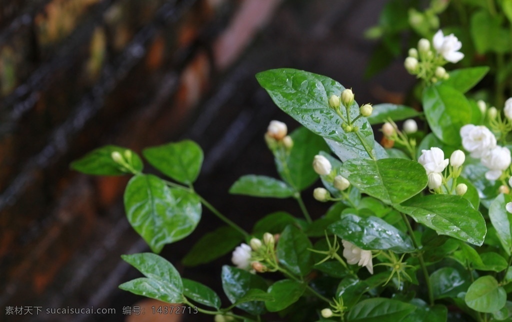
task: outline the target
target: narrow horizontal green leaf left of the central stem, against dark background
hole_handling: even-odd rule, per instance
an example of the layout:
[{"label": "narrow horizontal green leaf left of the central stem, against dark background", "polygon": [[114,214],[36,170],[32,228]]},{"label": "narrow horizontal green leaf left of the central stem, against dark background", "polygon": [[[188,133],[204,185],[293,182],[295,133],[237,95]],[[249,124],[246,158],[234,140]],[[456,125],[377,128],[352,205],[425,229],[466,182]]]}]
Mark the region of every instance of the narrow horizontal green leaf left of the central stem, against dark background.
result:
[{"label": "narrow horizontal green leaf left of the central stem, against dark background", "polygon": [[252,197],[288,198],[293,196],[293,189],[283,181],[271,177],[247,175],[233,183],[229,193]]}]

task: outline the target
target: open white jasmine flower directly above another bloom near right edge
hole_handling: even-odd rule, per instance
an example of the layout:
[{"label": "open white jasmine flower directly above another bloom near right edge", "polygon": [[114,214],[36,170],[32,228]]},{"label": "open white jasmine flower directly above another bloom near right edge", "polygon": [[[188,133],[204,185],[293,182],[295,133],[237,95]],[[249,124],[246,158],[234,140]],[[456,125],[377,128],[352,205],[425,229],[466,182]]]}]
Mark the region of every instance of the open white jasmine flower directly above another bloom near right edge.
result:
[{"label": "open white jasmine flower directly above another bloom near right edge", "polygon": [[467,124],[460,128],[462,146],[473,158],[482,158],[496,147],[496,137],[483,125]]}]

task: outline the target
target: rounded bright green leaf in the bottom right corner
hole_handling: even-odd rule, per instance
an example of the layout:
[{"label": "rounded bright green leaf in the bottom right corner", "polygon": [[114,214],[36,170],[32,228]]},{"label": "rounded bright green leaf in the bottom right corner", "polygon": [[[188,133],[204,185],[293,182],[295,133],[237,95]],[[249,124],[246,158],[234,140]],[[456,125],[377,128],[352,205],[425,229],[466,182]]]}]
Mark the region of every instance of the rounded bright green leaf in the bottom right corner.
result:
[{"label": "rounded bright green leaf in the bottom right corner", "polygon": [[493,313],[505,306],[507,293],[490,275],[479,277],[467,289],[464,301],[477,312]]}]

